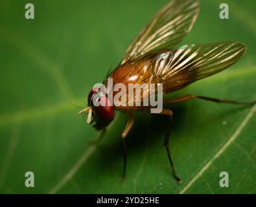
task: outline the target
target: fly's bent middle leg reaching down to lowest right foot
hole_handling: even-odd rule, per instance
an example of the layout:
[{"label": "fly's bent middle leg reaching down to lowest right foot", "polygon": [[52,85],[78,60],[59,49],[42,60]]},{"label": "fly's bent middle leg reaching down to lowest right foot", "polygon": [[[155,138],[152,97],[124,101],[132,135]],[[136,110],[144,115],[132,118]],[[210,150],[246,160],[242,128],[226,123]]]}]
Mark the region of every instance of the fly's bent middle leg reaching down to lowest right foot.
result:
[{"label": "fly's bent middle leg reaching down to lowest right foot", "polygon": [[174,164],[172,162],[172,157],[170,156],[170,149],[169,149],[169,136],[170,136],[170,126],[172,124],[172,111],[170,109],[163,109],[163,111],[161,111],[161,113],[159,114],[163,114],[163,115],[167,115],[169,116],[170,120],[169,120],[169,124],[167,125],[167,131],[165,134],[165,140],[163,142],[165,149],[167,151],[167,156],[169,159],[169,163],[170,163],[170,168],[172,169],[172,174],[174,175],[174,178],[178,181],[178,183],[181,183],[182,180],[180,179],[180,177],[178,177],[176,170],[174,168]]}]

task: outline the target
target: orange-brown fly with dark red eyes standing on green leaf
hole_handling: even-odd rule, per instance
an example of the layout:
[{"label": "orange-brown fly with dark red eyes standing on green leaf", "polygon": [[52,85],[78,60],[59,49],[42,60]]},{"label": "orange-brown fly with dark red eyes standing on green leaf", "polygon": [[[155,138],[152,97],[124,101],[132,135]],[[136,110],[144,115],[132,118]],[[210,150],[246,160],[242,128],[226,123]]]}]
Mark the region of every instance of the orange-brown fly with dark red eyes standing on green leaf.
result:
[{"label": "orange-brown fly with dark red eyes standing on green leaf", "polygon": [[[126,87],[128,87],[129,83],[161,83],[163,84],[163,93],[167,94],[181,89],[196,80],[223,71],[239,61],[246,52],[246,45],[239,42],[223,41],[202,45],[185,45],[178,49],[174,48],[191,30],[199,10],[200,4],[198,0],[170,1],[141,30],[126,50],[121,63],[108,74],[107,78],[112,78],[113,84],[123,83]],[[103,84],[108,87],[106,80]],[[122,180],[124,180],[126,175],[126,146],[124,140],[134,124],[133,113],[141,110],[150,111],[154,106],[132,107],[127,104],[115,105],[115,103],[111,105],[108,93],[109,91],[106,94],[102,94],[98,87],[93,88],[88,95],[88,106],[80,111],[80,114],[88,113],[87,122],[89,124],[95,122],[93,126],[97,130],[104,129],[110,124],[114,118],[114,110],[128,114],[128,121],[121,135],[124,146],[124,169],[122,174]],[[96,106],[93,103],[93,98],[104,101],[106,105]],[[220,100],[191,94],[175,99],[167,98],[163,100],[163,103],[179,103],[194,98],[219,103],[247,105],[255,103]],[[126,103],[130,102],[130,99],[131,97],[128,98]],[[143,97],[141,97],[142,99]],[[168,145],[172,111],[170,109],[163,109],[159,114],[168,116],[170,120],[164,145],[174,178],[181,182],[174,169]]]}]

